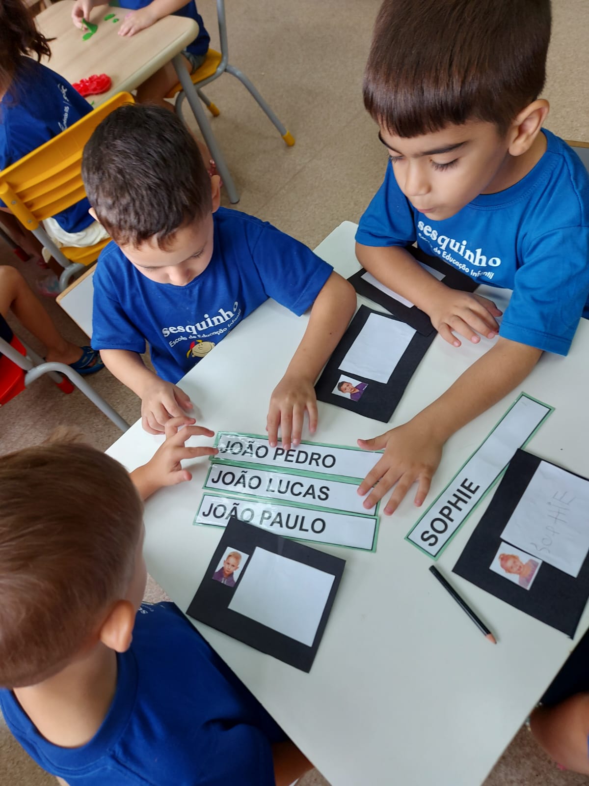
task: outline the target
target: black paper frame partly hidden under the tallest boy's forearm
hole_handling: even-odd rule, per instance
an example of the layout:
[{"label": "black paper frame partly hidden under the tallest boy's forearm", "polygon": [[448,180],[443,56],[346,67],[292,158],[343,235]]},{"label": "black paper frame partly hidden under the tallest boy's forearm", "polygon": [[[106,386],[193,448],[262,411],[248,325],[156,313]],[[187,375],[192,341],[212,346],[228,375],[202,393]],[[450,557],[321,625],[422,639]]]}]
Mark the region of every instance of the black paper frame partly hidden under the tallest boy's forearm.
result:
[{"label": "black paper frame partly hidden under the tallest boy's forearm", "polygon": [[[474,278],[461,273],[460,270],[456,270],[454,266],[444,262],[440,257],[426,254],[421,248],[409,246],[407,251],[419,262],[423,262],[433,267],[434,270],[443,273],[443,283],[452,289],[458,289],[461,292],[474,292],[479,284]],[[364,273],[366,273],[366,270],[363,267],[348,278],[349,283],[353,285],[353,288],[359,295],[367,297],[374,303],[379,303],[379,306],[386,308],[390,314],[393,314],[394,317],[397,317],[402,322],[406,322],[407,325],[411,325],[413,329],[418,330],[423,336],[429,336],[430,333],[435,332],[434,325],[431,324],[430,317],[425,311],[422,311],[417,306],[405,306],[404,303],[395,300],[390,295],[387,295],[386,292],[382,292],[378,287],[369,284],[368,281],[364,281],[364,278],[362,278]]]}]

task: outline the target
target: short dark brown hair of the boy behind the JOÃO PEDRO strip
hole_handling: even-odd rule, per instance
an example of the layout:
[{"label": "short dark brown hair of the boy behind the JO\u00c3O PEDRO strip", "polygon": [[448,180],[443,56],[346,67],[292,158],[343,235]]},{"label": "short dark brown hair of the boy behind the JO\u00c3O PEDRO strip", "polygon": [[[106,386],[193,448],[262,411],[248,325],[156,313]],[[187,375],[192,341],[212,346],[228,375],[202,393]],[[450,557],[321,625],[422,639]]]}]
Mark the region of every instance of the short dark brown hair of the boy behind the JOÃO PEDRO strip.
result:
[{"label": "short dark brown hair of the boy behind the JO\u00c3O PEDRO strip", "polygon": [[119,244],[155,237],[166,249],[184,224],[212,209],[196,139],[167,109],[127,104],[94,130],[82,179],[98,220]]}]

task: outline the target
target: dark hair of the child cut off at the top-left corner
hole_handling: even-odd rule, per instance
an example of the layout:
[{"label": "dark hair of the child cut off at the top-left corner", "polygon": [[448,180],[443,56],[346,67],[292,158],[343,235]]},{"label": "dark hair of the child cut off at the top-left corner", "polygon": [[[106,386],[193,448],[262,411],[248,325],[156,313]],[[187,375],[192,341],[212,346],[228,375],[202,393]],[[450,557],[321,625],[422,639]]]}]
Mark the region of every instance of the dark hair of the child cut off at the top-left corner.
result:
[{"label": "dark hair of the child cut off at the top-left corner", "polygon": [[23,55],[51,57],[49,40],[21,0],[0,0],[0,96],[9,89]]}]

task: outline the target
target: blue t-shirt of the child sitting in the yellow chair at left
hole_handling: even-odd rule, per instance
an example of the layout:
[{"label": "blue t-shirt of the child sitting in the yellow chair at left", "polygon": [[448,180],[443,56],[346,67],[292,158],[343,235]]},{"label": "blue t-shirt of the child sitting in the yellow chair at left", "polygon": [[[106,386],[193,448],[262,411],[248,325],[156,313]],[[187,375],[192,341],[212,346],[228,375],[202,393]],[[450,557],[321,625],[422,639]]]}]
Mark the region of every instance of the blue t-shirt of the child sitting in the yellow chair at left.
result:
[{"label": "blue t-shirt of the child sitting in the yellow chair at left", "polygon": [[[31,57],[21,57],[0,101],[0,171],[89,112],[88,101],[62,76]],[[83,199],[53,218],[66,232],[81,232],[94,220],[89,210],[90,202]]]}]

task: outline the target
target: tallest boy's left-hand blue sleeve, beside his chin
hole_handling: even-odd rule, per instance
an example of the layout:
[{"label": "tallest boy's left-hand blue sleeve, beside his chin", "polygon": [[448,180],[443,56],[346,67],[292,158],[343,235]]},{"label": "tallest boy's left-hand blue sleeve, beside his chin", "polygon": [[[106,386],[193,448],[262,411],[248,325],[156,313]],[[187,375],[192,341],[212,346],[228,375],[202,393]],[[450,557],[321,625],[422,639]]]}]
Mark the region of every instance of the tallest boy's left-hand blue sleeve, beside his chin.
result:
[{"label": "tallest boy's left-hand blue sleeve, beside his chin", "polygon": [[397,185],[393,165],[389,163],[382,185],[360,219],[356,241],[369,246],[407,246],[416,240],[412,207]]}]

